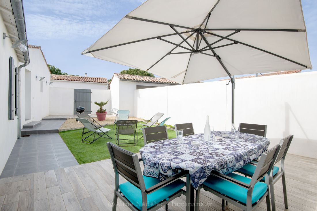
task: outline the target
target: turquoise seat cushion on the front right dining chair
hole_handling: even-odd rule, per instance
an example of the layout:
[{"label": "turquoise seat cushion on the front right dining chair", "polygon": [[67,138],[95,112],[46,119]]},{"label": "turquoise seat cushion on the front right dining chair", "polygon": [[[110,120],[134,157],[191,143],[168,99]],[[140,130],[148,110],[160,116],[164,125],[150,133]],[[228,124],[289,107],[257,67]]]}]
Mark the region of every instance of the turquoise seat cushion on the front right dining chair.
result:
[{"label": "turquoise seat cushion on the front right dining chair", "polygon": [[[227,176],[230,176],[236,180],[249,184],[251,179],[235,173],[230,173]],[[229,196],[230,198],[240,201],[244,204],[247,203],[247,192],[248,190],[236,185],[232,182],[228,182],[224,179],[221,179],[217,176],[209,176],[207,180],[203,183],[205,186],[213,189],[223,195]],[[267,184],[264,182],[256,182],[253,192],[252,192],[252,204],[257,202],[268,189]]]}]

